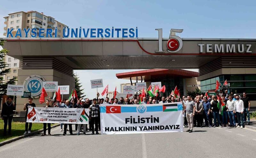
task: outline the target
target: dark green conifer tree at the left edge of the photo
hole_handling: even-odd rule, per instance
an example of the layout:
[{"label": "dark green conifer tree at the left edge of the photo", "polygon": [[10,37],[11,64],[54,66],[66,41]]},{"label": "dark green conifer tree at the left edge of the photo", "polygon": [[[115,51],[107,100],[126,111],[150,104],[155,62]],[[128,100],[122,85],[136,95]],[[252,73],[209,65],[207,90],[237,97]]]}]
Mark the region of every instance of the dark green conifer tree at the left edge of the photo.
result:
[{"label": "dark green conifer tree at the left edge of the photo", "polygon": [[[0,46],[4,45],[4,41],[0,41]],[[4,83],[4,75],[11,72],[11,68],[6,68],[8,65],[4,62],[4,57],[9,51],[7,49],[2,49],[0,51],[0,95],[5,95],[7,91],[8,84],[15,84],[17,77],[13,77],[6,83]]]}]

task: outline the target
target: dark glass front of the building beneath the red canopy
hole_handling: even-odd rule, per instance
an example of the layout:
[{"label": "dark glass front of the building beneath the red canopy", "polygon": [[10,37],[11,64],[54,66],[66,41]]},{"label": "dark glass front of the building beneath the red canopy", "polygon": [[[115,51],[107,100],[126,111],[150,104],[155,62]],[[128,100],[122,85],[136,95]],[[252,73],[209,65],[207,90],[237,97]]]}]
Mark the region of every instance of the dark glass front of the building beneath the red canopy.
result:
[{"label": "dark glass front of the building beneath the red canopy", "polygon": [[[172,75],[165,75],[165,76],[151,76],[151,82],[161,82],[162,86],[165,85],[165,93],[162,95],[166,96],[171,94],[174,90],[175,86],[180,89],[180,97],[183,95],[183,78],[172,76]],[[153,89],[154,87],[152,87]],[[161,87],[159,87],[160,89]]]}]

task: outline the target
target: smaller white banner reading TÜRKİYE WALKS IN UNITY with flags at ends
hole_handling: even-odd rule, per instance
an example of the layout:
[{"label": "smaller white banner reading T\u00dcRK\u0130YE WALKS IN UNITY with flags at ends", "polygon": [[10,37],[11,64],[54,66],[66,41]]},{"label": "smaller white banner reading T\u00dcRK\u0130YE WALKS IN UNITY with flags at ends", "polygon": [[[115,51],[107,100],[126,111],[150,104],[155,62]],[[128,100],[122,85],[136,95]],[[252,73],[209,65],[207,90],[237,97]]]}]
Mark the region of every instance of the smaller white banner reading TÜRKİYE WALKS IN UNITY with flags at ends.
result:
[{"label": "smaller white banner reading T\u00dcRK\u0130YE WALKS IN UNITY with flags at ends", "polygon": [[89,124],[89,109],[29,107],[27,122]]}]

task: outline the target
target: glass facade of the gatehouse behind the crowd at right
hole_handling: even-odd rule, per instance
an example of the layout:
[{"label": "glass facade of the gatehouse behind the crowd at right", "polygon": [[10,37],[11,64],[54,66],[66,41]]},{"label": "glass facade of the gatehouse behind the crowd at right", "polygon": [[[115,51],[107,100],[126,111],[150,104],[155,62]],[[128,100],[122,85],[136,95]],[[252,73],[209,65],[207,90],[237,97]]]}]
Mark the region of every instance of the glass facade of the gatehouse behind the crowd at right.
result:
[{"label": "glass facade of the gatehouse behind the crowd at right", "polygon": [[[216,80],[220,81],[220,84],[227,80],[230,84],[229,93],[233,92],[234,94],[241,95],[245,91],[251,100],[256,100],[254,97],[256,94],[256,74],[221,75],[203,80],[200,82],[202,93],[208,90],[215,90]],[[223,90],[226,89],[227,87],[223,87]]]}]

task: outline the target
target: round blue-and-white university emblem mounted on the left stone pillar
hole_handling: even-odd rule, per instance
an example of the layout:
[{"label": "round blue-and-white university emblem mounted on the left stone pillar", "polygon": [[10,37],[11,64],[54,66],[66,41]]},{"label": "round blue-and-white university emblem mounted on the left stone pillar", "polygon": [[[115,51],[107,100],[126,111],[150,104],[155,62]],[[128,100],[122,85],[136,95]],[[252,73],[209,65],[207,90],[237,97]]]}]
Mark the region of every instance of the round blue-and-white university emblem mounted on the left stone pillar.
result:
[{"label": "round blue-and-white university emblem mounted on the left stone pillar", "polygon": [[42,93],[44,78],[39,75],[31,75],[24,81],[24,89],[27,92],[31,92],[31,97],[39,98]]}]

